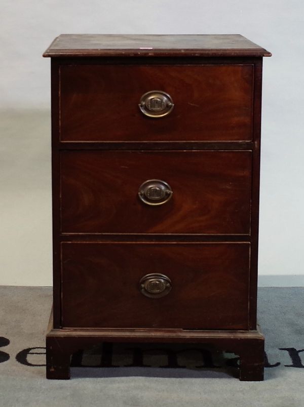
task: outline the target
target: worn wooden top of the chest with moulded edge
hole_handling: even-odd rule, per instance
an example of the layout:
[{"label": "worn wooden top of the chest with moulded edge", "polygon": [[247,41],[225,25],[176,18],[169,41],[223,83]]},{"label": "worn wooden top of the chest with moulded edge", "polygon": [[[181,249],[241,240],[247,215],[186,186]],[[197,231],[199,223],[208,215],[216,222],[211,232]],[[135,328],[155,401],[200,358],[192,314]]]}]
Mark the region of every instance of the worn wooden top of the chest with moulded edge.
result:
[{"label": "worn wooden top of the chest with moulded edge", "polygon": [[240,34],[116,35],[61,34],[44,57],[269,57]]}]

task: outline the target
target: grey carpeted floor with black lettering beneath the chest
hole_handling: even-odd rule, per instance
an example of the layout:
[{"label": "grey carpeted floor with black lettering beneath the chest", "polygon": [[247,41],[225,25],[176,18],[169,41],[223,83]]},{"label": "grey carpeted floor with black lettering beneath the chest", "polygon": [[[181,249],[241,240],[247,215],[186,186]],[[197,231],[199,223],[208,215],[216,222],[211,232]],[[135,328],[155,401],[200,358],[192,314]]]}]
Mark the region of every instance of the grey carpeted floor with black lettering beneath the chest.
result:
[{"label": "grey carpeted floor with black lettering beneath the chest", "polygon": [[[191,352],[178,359],[185,368],[161,368],[167,361],[157,350],[143,360],[149,367],[126,367],[134,354],[124,345],[113,349],[113,364],[119,367],[74,367],[70,381],[47,381],[44,337],[50,307],[49,288],[0,287],[1,406],[304,405],[304,352],[297,352],[304,348],[302,288],[259,290],[269,361],[264,382],[240,382],[231,369],[198,368],[202,363]],[[80,363],[94,366],[98,358],[98,350],[87,352]]]}]

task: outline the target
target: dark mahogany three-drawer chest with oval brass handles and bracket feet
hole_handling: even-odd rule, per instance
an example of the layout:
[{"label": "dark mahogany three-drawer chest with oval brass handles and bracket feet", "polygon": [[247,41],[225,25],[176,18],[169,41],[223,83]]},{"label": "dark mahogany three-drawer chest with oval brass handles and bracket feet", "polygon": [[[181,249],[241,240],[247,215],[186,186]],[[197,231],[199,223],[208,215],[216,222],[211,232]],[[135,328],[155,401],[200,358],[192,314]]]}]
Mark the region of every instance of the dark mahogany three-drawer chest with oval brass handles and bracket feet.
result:
[{"label": "dark mahogany three-drawer chest with oval brass handles and bracket feet", "polygon": [[100,342],[202,342],[262,380],[263,48],[241,35],[60,35],[47,377]]}]

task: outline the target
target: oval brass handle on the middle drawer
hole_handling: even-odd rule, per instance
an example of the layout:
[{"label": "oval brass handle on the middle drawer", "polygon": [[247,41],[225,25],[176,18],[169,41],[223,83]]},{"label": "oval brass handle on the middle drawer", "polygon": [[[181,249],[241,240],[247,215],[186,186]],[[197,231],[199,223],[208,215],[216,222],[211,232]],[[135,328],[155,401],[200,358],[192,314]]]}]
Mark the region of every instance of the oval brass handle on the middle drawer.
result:
[{"label": "oval brass handle on the middle drawer", "polygon": [[170,185],[162,180],[147,180],[138,190],[139,199],[146,205],[163,205],[171,198]]}]

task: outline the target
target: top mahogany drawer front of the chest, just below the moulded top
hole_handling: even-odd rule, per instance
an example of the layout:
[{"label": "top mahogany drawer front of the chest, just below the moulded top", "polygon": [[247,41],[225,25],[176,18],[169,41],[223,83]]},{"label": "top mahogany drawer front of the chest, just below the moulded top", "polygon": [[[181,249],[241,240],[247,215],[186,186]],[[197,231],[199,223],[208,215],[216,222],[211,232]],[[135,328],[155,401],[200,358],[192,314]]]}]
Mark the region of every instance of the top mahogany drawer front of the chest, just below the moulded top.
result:
[{"label": "top mahogany drawer front of the chest, just below the moulded top", "polygon": [[[62,65],[60,137],[62,141],[250,141],[252,84],[249,64]],[[174,108],[166,116],[151,118],[140,111],[139,102],[143,94],[155,90],[169,94]],[[152,108],[158,108],[157,103]]]}]

